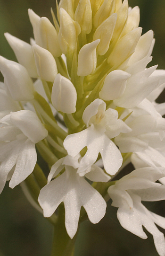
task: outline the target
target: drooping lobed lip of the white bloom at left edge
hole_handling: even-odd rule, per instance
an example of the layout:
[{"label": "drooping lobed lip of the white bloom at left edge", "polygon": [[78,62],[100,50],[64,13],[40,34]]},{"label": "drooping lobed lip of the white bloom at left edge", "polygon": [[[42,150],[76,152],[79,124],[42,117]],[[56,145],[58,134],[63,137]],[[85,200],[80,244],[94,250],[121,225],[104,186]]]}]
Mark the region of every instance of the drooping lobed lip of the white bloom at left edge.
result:
[{"label": "drooping lobed lip of the white bloom at left edge", "polygon": [[0,143],[0,192],[2,191],[9,171],[16,165],[9,186],[14,188],[28,177],[37,161],[35,144],[24,138],[22,141]]}]

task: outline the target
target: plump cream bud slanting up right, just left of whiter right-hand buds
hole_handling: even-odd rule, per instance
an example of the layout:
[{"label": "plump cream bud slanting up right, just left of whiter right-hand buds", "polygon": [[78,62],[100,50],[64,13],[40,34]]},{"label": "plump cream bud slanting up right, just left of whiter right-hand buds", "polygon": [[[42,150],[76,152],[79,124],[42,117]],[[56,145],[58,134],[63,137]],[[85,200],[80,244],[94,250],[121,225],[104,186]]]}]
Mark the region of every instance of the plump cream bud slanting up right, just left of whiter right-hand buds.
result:
[{"label": "plump cream bud slanting up right, just left of whiter right-hand buds", "polygon": [[114,50],[108,57],[107,62],[111,66],[120,66],[124,61],[131,57],[140,39],[142,28],[138,27],[122,37],[115,45]]}]

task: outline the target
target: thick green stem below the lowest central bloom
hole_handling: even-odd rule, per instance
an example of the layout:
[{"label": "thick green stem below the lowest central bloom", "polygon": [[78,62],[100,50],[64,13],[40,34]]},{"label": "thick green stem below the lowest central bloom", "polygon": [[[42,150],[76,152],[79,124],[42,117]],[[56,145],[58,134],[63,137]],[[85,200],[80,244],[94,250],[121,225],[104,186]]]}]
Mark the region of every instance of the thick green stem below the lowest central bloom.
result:
[{"label": "thick green stem below the lowest central bloom", "polygon": [[64,204],[58,207],[58,221],[54,225],[54,238],[51,256],[74,256],[74,243],[76,235],[71,239],[65,228]]}]

